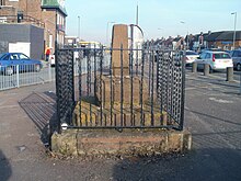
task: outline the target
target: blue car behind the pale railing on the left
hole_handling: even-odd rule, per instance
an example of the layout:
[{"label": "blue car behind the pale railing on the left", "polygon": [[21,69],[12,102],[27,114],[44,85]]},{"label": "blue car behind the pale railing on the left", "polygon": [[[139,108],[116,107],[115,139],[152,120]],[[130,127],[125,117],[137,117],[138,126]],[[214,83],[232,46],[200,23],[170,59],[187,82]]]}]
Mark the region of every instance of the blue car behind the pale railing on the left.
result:
[{"label": "blue car behind the pale railing on the left", "polygon": [[22,53],[3,53],[0,54],[0,72],[12,75],[19,71],[41,71],[43,64],[41,60],[31,59]]}]

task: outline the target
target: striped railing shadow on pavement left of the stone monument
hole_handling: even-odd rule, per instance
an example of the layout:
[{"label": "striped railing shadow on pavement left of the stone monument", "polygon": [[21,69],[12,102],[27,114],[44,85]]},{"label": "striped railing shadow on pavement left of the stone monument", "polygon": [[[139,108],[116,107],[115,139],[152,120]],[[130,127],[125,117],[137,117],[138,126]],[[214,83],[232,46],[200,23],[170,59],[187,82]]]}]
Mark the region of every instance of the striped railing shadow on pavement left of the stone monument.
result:
[{"label": "striped railing shadow on pavement left of the stone monument", "polygon": [[56,127],[56,95],[54,92],[33,92],[19,102],[41,133],[44,144],[49,144]]}]

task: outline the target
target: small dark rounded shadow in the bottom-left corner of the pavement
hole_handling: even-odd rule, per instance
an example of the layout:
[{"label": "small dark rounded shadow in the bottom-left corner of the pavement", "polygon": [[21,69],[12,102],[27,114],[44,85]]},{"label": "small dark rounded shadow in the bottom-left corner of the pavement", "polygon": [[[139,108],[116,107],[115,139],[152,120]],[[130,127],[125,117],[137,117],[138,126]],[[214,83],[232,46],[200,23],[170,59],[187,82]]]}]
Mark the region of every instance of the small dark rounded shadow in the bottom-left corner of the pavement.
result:
[{"label": "small dark rounded shadow in the bottom-left corner of the pavement", "polygon": [[0,149],[0,180],[7,181],[12,176],[12,168],[3,155],[2,150]]}]

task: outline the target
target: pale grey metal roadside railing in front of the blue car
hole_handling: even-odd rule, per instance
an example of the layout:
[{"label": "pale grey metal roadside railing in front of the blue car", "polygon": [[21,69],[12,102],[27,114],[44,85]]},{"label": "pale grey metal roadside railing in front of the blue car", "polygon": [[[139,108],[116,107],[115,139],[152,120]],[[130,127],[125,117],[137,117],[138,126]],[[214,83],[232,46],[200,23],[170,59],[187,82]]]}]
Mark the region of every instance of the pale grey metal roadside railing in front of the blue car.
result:
[{"label": "pale grey metal roadside railing in front of the blue car", "polygon": [[[32,67],[32,69],[30,69],[30,67]],[[0,90],[55,80],[55,68],[50,67],[48,64],[37,71],[35,70],[35,65],[11,65],[11,70],[8,70],[7,67],[0,66]]]}]

